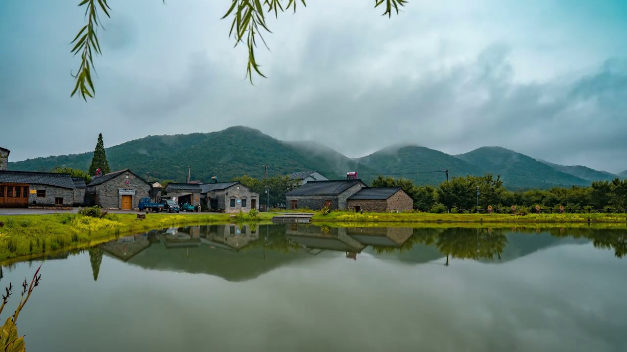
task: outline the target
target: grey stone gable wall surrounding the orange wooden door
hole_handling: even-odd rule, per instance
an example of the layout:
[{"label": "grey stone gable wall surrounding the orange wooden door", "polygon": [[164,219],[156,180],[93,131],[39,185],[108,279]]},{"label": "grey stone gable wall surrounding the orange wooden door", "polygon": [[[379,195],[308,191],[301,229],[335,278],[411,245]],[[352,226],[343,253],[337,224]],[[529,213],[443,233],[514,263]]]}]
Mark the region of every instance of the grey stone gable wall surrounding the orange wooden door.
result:
[{"label": "grey stone gable wall surrounding the orange wooden door", "polygon": [[[129,182],[128,184],[126,182]],[[122,209],[122,196],[120,189],[134,190],[131,208],[136,209],[139,200],[150,195],[150,185],[130,172],[123,172],[113,179],[100,185],[87,187],[87,196],[92,192],[98,195],[98,205],[104,209]]]}]

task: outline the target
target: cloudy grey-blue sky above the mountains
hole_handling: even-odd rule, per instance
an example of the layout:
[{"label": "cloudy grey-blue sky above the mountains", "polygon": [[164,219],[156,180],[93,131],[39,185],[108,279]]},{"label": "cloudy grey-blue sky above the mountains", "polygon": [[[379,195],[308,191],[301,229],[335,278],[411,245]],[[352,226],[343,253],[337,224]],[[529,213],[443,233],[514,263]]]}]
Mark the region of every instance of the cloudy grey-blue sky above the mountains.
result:
[{"label": "cloudy grey-blue sky above the mountains", "polygon": [[[245,80],[229,0],[109,0],[97,96],[70,98],[79,0],[0,1],[0,145],[11,160],[233,125],[349,157],[398,143],[499,145],[627,168],[627,1],[310,0],[269,21]],[[334,132],[334,133],[329,133]]]}]

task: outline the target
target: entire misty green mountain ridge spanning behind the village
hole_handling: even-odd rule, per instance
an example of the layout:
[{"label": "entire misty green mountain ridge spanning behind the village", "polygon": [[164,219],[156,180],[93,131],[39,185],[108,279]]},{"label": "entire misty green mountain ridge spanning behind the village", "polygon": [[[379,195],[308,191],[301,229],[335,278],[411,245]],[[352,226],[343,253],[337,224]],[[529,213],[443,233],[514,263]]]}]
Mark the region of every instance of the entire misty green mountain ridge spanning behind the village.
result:
[{"label": "entire misty green mountain ridge spanning behind the village", "polygon": [[[105,136],[106,140],[106,136]],[[392,145],[361,158],[349,158],[319,142],[280,141],[255,128],[235,126],[218,132],[149,135],[106,148],[112,170],[130,168],[151,179],[183,182],[187,167],[191,179],[221,181],[249,175],[268,177],[317,170],[329,179],[356,171],[366,182],[377,175],[403,177],[416,184],[438,185],[449,177],[502,175],[508,189],[589,185],[592,180],[617,177],[584,166],[565,166],[536,160],[502,147],[482,147],[460,155],[416,145]],[[92,152],[9,162],[10,170],[50,171],[56,167],[87,170]],[[627,176],[627,170],[625,176]]]}]

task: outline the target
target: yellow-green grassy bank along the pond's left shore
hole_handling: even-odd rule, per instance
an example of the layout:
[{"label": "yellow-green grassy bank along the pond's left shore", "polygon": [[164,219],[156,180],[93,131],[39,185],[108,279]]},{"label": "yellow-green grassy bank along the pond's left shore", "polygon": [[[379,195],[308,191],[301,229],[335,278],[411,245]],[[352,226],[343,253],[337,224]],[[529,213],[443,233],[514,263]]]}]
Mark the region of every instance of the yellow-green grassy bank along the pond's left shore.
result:
[{"label": "yellow-green grassy bank along the pond's left shore", "polygon": [[0,261],[23,256],[41,256],[58,249],[90,247],[112,237],[164,227],[257,222],[270,220],[271,213],[255,219],[247,214],[108,214],[102,219],[80,214],[0,215]]}]

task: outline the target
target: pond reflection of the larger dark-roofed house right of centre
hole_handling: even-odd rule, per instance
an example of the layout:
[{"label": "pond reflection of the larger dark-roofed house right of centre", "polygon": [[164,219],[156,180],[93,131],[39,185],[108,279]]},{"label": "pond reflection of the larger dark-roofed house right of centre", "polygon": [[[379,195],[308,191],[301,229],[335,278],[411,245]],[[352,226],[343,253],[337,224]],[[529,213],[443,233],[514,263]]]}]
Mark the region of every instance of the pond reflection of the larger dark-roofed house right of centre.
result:
[{"label": "pond reflection of the larger dark-roofed house right of centre", "polygon": [[340,228],[323,232],[317,226],[292,224],[289,225],[285,234],[288,239],[298,242],[307,249],[359,253],[366,247],[348,236],[345,229]]}]

